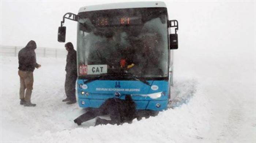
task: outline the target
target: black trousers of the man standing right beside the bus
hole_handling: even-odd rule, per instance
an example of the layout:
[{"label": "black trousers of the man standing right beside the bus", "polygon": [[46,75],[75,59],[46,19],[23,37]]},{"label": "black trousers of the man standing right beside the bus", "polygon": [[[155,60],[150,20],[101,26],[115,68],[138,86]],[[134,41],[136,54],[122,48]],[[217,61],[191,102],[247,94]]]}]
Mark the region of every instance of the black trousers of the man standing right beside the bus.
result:
[{"label": "black trousers of the man standing right beside the bus", "polygon": [[66,73],[65,93],[70,100],[76,100],[76,73]]}]

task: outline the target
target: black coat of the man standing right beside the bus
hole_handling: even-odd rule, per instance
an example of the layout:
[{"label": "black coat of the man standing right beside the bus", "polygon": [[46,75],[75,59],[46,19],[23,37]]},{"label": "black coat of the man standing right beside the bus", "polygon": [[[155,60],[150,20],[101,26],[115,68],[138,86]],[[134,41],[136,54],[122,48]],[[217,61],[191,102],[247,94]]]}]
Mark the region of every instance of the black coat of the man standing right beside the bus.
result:
[{"label": "black coat of the man standing right beside the bus", "polygon": [[67,71],[68,74],[77,74],[76,50],[74,49],[68,51],[65,71]]}]

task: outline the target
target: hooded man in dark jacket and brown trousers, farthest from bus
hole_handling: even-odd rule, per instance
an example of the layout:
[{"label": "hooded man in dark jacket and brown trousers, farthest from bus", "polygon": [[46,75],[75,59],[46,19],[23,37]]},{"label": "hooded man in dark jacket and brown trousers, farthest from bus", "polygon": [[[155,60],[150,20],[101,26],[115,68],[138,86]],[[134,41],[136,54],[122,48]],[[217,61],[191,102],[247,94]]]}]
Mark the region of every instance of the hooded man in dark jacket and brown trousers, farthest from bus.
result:
[{"label": "hooded man in dark jacket and brown trousers, farthest from bus", "polygon": [[[27,46],[19,51],[19,77],[20,77],[20,105],[27,107],[35,107],[36,104],[31,103],[31,94],[33,90],[33,71],[35,67],[38,69],[41,67],[36,61],[35,49],[37,45],[35,41],[31,40],[27,43]],[[25,91],[26,90],[26,91]]]}]

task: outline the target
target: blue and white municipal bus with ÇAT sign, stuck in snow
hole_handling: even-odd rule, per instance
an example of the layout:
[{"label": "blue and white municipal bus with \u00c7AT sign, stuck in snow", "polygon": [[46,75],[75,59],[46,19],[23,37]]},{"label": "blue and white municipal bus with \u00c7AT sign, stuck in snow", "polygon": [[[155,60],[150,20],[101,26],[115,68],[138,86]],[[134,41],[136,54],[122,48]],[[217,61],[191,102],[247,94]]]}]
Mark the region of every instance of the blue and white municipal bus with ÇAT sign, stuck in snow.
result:
[{"label": "blue and white municipal bus with \u00c7AT sign, stuck in snow", "polygon": [[81,7],[66,13],[77,22],[77,95],[81,108],[98,108],[108,98],[131,95],[136,109],[163,111],[171,97],[173,49],[178,22],[159,1]]}]

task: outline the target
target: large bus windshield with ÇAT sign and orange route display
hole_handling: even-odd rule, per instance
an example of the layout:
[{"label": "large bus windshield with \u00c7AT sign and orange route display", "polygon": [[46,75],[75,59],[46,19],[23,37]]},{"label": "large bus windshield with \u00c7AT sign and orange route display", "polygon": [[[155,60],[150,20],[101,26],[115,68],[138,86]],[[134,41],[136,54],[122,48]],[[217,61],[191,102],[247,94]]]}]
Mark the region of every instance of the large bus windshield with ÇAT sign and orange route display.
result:
[{"label": "large bus windshield with \u00c7AT sign and orange route display", "polygon": [[168,76],[166,8],[129,8],[78,14],[79,77]]}]

